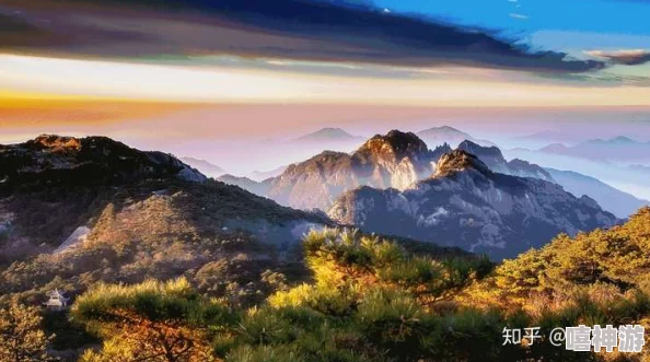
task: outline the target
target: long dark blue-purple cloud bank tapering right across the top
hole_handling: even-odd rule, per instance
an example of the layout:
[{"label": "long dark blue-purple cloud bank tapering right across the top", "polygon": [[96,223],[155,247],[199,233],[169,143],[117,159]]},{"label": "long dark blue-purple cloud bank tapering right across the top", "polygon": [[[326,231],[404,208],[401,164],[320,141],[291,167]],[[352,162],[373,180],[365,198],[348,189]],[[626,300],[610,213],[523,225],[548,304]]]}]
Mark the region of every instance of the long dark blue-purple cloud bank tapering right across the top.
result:
[{"label": "long dark blue-purple cloud bank tapering right across the top", "polygon": [[530,51],[476,28],[367,5],[302,0],[8,0],[0,48],[96,57],[234,55],[533,72],[583,72],[597,60]]}]

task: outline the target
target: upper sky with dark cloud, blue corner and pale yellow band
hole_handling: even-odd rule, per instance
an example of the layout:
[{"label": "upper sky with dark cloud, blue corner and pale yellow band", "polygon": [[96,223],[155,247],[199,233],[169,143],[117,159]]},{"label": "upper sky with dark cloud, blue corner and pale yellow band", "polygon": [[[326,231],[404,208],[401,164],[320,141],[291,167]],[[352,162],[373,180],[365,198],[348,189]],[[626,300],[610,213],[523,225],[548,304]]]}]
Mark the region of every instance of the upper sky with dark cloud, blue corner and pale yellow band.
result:
[{"label": "upper sky with dark cloud, blue corner and pale yellow band", "polygon": [[0,94],[648,105],[648,15],[643,0],[5,0]]}]

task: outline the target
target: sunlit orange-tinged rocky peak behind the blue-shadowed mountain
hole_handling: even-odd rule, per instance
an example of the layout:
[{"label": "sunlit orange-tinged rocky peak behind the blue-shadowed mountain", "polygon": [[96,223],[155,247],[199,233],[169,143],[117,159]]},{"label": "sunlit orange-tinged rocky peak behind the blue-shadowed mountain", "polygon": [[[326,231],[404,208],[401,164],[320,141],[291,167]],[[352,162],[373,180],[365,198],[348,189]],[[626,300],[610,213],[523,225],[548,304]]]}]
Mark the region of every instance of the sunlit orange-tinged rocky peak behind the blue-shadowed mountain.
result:
[{"label": "sunlit orange-tinged rocky peak behind the blue-shadowed mountain", "polygon": [[393,130],[376,135],[352,154],[323,152],[290,165],[266,180],[267,196],[298,209],[327,210],[344,191],[359,186],[405,189],[433,173],[438,157],[449,145],[430,151],[414,133]]}]

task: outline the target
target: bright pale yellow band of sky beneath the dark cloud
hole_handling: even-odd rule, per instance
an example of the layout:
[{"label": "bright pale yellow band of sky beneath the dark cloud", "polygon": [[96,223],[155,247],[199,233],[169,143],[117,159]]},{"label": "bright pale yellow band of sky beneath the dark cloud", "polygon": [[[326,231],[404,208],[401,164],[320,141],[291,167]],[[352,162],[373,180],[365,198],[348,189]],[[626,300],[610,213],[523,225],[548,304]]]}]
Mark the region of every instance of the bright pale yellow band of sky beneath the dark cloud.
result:
[{"label": "bright pale yellow band of sky beneath the dark cloud", "polygon": [[[422,106],[650,105],[650,87],[472,79],[339,77],[265,69],[148,65],[0,55],[0,102],[135,100],[181,103],[339,103]],[[478,75],[477,75],[478,74]],[[506,74],[506,73],[504,73]]]}]

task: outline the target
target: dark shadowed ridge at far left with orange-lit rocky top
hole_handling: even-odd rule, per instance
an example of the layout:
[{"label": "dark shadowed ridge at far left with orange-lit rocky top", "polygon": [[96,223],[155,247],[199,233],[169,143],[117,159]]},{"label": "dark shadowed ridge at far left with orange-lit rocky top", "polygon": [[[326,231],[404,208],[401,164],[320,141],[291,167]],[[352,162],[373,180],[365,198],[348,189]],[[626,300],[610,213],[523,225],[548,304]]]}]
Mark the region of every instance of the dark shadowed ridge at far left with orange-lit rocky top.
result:
[{"label": "dark shadowed ridge at far left with orange-lit rocky top", "polygon": [[156,177],[207,179],[171,154],[138,151],[105,137],[44,135],[0,145],[1,191],[44,185],[119,185]]}]

